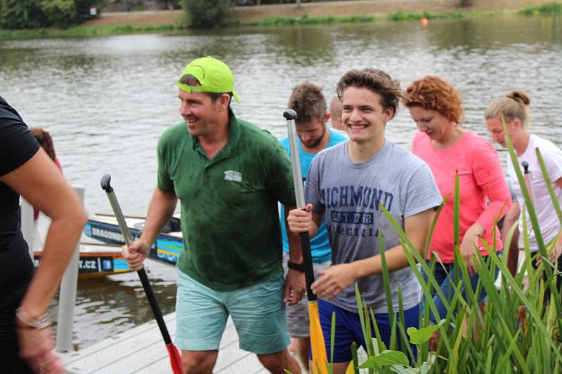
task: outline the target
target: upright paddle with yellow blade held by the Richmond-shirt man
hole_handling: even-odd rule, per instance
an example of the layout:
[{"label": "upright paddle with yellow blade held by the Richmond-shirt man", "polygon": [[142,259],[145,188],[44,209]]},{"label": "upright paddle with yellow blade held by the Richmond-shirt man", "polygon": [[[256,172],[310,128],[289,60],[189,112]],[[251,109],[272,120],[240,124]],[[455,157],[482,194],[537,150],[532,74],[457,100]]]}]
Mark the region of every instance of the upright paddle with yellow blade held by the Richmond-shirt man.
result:
[{"label": "upright paddle with yellow blade held by the Richmond-shirt man", "polygon": [[[304,209],[303,177],[301,173],[301,159],[299,158],[298,138],[294,120],[296,112],[287,109],[283,112],[287,119],[287,131],[289,133],[289,147],[291,148],[291,161],[293,165],[294,194],[296,197],[296,208]],[[306,278],[306,296],[308,298],[308,318],[310,319],[312,366],[311,373],[327,373],[326,345],[324,334],[320,327],[320,316],[318,316],[318,301],[312,292],[311,286],[314,283],[314,269],[312,266],[311,239],[308,232],[301,232],[301,248],[303,252],[304,276]]]}]

